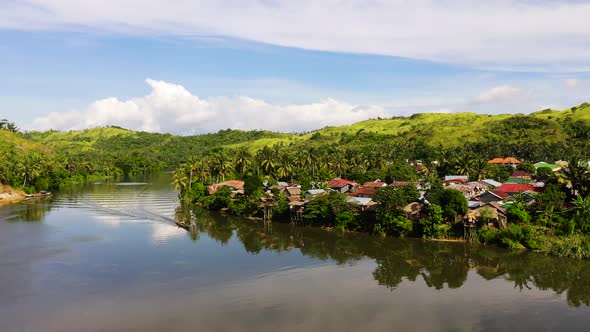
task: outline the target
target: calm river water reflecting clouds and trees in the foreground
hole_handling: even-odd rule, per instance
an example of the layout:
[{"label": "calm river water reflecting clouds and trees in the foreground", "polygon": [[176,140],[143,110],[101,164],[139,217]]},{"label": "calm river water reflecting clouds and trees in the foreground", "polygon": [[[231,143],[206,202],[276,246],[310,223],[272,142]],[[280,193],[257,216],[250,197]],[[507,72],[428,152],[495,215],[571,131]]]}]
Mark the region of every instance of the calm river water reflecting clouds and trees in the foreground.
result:
[{"label": "calm river water reflecting clouds and trees in the foreground", "polygon": [[135,180],[0,209],[0,331],[590,326],[588,261],[268,226],[179,207],[167,174]]}]

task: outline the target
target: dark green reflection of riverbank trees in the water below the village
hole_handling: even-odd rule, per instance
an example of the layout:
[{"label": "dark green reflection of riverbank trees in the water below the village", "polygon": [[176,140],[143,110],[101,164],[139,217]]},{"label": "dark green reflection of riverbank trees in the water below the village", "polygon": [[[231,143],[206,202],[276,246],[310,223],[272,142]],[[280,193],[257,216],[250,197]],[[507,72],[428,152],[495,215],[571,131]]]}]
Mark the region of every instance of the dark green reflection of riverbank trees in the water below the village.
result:
[{"label": "dark green reflection of riverbank trees in the water below the village", "polygon": [[196,220],[194,240],[199,239],[199,233],[206,232],[208,237],[225,245],[235,234],[252,254],[296,249],[305,256],[339,265],[371,258],[377,264],[373,278],[392,290],[404,281],[418,279],[437,290],[457,289],[466,283],[470,271],[475,271],[485,280],[512,283],[517,290],[551,290],[565,294],[570,306],[590,306],[590,264],[583,260],[465,243],[381,238],[281,223],[268,225],[195,207],[178,207],[176,217],[186,222]]}]

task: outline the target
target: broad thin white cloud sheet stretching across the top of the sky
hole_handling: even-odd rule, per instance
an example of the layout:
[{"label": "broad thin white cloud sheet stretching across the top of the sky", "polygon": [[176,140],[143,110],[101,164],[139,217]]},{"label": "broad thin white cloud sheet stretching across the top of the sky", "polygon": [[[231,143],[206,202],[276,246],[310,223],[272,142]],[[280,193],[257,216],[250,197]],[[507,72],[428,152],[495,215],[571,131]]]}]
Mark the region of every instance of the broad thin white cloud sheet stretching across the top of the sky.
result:
[{"label": "broad thin white cloud sheet stretching across the top of the sky", "polygon": [[587,1],[29,0],[0,28],[225,36],[496,68],[590,68]]}]

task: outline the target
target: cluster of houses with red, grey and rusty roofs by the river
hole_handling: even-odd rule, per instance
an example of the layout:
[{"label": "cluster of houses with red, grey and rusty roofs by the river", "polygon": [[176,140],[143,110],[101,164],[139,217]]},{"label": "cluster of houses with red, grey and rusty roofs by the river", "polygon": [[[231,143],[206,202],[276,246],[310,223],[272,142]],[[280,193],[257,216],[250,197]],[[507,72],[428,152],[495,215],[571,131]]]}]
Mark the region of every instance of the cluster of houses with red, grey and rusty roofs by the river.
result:
[{"label": "cluster of houses with red, grey and rusty roofs by the river", "polygon": [[[489,163],[516,167],[521,162],[514,157],[507,157],[494,158]],[[555,164],[546,162],[535,164],[536,168],[547,167],[554,172],[560,171],[565,166],[567,166],[567,163],[563,161],[557,161]],[[463,216],[465,223],[475,223],[485,215],[489,222],[495,223],[500,227],[506,223],[506,207],[512,203],[512,197],[515,194],[522,194],[527,201],[532,203],[535,195],[541,192],[545,186],[543,180],[535,179],[533,175],[520,170],[514,170],[510,178],[503,183],[493,179],[469,181],[469,178],[464,175],[448,175],[445,176],[442,182],[445,188],[456,189],[467,199],[469,212]],[[287,198],[291,211],[302,212],[309,200],[319,195],[326,195],[330,191],[345,194],[349,202],[358,205],[359,210],[366,211],[368,209],[375,209],[378,205],[377,202],[373,201],[373,196],[380,188],[407,185],[415,186],[421,194],[420,202],[409,204],[404,209],[408,218],[416,220],[421,216],[423,204],[428,204],[424,199],[425,189],[428,187],[428,184],[423,186],[420,182],[406,181],[395,181],[388,184],[382,180],[359,184],[352,180],[334,178],[325,183],[316,183],[316,189],[310,189],[305,192],[302,191],[300,185],[287,182],[278,182],[275,188]],[[230,187],[233,197],[244,193],[244,182],[240,180],[217,183],[208,186],[207,191],[209,194],[212,194],[222,186]],[[272,204],[275,199],[269,191],[267,197],[263,198],[262,201],[262,205],[268,205]],[[488,210],[486,211],[487,213],[483,213],[484,210]]]}]

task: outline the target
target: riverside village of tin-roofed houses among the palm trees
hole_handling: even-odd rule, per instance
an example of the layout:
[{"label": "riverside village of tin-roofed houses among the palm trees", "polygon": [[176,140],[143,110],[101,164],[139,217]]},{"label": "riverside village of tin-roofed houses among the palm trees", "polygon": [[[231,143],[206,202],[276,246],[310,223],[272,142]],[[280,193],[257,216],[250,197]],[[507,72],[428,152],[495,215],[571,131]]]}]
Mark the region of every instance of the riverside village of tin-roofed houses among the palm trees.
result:
[{"label": "riverside village of tin-roofed houses among the palm trees", "polygon": [[[476,224],[481,224],[482,221],[487,226],[505,228],[507,225],[507,208],[514,203],[514,196],[518,195],[518,199],[524,200],[528,205],[534,204],[536,195],[543,192],[549,173],[558,173],[567,166],[565,161],[557,161],[554,164],[543,161],[538,162],[534,164],[535,171],[540,168],[545,170],[539,172],[541,175],[536,175],[536,172],[529,173],[517,170],[521,161],[514,157],[494,158],[489,160],[488,163],[497,166],[510,166],[513,172],[509,179],[504,182],[494,179],[471,181],[465,175],[446,175],[441,179],[445,189],[457,190],[465,197],[468,210],[463,215],[458,215],[455,221],[462,222],[466,228],[475,227]],[[424,168],[420,161],[414,163],[414,166],[417,171]],[[277,201],[275,195],[278,194],[287,199],[290,221],[294,223],[304,223],[303,213],[306,205],[320,196],[328,195],[330,192],[346,195],[346,201],[354,204],[358,212],[370,213],[375,212],[380,205],[379,202],[374,200],[378,190],[385,187],[412,186],[418,190],[419,199],[407,204],[403,208],[403,213],[406,218],[416,222],[426,217],[425,207],[429,205],[429,202],[425,194],[431,183],[427,181],[393,181],[387,183],[376,179],[361,184],[353,180],[336,177],[326,182],[314,183],[314,187],[307,190],[304,190],[299,184],[283,181],[273,186],[269,186],[268,183],[263,185],[265,195],[260,198],[259,205],[263,219],[268,221],[272,219],[272,208]],[[229,180],[207,186],[207,193],[212,195],[225,186],[230,188],[233,199],[244,195],[243,180]],[[466,232],[466,234],[468,233]]]}]

